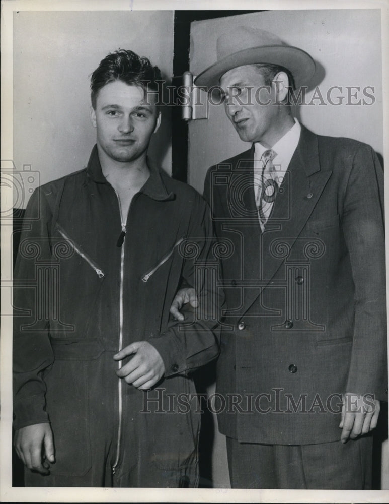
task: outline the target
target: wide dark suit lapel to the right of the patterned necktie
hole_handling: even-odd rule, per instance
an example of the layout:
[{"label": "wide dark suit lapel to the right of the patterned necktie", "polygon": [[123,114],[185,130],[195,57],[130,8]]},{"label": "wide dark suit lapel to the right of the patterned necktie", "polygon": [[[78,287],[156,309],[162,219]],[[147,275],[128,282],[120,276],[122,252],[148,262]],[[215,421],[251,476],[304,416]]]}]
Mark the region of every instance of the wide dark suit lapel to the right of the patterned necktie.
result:
[{"label": "wide dark suit lapel to the right of the patterned necktie", "polygon": [[[274,277],[285,261],[285,257],[280,257],[277,253],[275,245],[286,242],[291,247],[294,244],[314,210],[331,173],[320,169],[317,136],[301,127],[299,143],[277,194],[273,213],[264,233],[261,233],[258,224],[259,246],[258,232],[243,231],[247,240],[243,245],[246,280],[261,279],[267,283]],[[263,288],[264,286],[258,290],[248,289],[244,296],[244,311],[250,308]]]}]

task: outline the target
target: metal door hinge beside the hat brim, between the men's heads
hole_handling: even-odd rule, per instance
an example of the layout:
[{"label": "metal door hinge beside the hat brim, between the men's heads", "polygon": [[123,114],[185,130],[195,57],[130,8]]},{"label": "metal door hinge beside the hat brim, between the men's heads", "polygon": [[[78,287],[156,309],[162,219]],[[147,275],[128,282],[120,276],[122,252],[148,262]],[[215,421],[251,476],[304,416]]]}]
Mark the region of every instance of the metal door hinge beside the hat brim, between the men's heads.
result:
[{"label": "metal door hinge beside the hat brim, between the men's heads", "polygon": [[180,103],[182,104],[181,117],[185,121],[208,119],[207,92],[193,84],[195,78],[196,76],[190,72],[185,72],[182,76]]}]

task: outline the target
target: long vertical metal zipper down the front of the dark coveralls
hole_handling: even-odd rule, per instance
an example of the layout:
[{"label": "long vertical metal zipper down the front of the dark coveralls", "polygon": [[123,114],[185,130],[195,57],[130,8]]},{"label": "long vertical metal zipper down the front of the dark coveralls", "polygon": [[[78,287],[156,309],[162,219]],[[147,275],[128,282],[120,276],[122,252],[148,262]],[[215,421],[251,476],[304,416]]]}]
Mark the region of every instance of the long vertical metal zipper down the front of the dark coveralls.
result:
[{"label": "long vertical metal zipper down the front of the dark coveralls", "polygon": [[[119,212],[120,212],[120,220],[122,225],[122,232],[120,233],[119,239],[116,243],[118,247],[121,247],[121,255],[120,255],[120,289],[119,289],[119,352],[122,349],[123,345],[123,280],[124,280],[124,240],[126,235],[126,224],[127,222],[123,221],[123,213],[122,206],[120,203],[120,198],[115,190],[116,197],[119,202]],[[131,202],[132,203],[132,202]],[[131,205],[130,205],[131,206]],[[118,369],[122,367],[122,361],[118,362]],[[116,459],[112,466],[112,474],[115,474],[115,469],[119,462],[120,457],[120,440],[122,435],[122,410],[123,410],[123,400],[122,400],[122,387],[123,380],[121,378],[118,379],[118,410],[119,410],[119,425],[118,425],[118,437],[117,437],[117,448],[116,448]]]}]

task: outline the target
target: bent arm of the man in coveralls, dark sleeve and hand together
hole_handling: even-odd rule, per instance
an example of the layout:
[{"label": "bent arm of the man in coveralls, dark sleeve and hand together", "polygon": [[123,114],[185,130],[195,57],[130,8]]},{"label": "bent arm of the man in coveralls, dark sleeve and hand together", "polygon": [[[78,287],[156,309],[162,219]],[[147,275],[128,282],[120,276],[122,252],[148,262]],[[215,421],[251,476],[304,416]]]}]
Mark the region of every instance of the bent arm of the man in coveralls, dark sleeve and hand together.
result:
[{"label": "bent arm of the man in coveralls, dark sleeve and hand together", "polygon": [[[210,259],[214,260],[212,222],[209,210],[199,196],[195,198],[191,209],[187,238],[193,240],[194,248],[198,252],[195,258],[197,263],[190,254],[186,254],[182,269],[183,282],[194,285],[198,293],[199,306],[193,317],[185,324],[179,321],[170,322],[167,331],[158,338],[133,343],[114,357],[120,360],[131,353],[136,353],[117,374],[120,377],[126,376],[126,381],[127,378],[130,380],[128,383],[141,389],[154,385],[162,375],[185,374],[190,369],[213,360],[219,352],[217,325],[223,294],[214,284],[214,280],[209,280],[205,268],[196,266],[200,263],[204,265]],[[153,350],[159,354],[160,360],[154,358]],[[142,355],[138,355],[139,352]],[[152,369],[146,366],[139,376],[141,362],[146,362],[147,359],[153,360],[155,365]],[[133,379],[135,380],[132,381]]]}]

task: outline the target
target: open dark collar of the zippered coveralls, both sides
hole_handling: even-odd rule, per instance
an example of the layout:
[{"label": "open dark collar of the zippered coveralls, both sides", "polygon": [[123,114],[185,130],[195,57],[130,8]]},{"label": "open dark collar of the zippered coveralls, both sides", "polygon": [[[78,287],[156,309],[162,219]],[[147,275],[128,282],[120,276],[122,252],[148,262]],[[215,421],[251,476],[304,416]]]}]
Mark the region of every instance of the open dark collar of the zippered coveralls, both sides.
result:
[{"label": "open dark collar of the zippered coveralls, both sides", "polygon": [[[175,196],[173,193],[168,192],[162,179],[161,170],[158,166],[155,165],[149,158],[147,158],[147,166],[150,170],[150,176],[146,180],[140,192],[149,196],[153,200],[173,200]],[[109,184],[101,169],[97,145],[95,145],[92,149],[91,156],[88,161],[87,174],[94,182]]]}]

